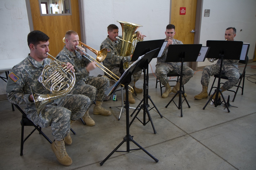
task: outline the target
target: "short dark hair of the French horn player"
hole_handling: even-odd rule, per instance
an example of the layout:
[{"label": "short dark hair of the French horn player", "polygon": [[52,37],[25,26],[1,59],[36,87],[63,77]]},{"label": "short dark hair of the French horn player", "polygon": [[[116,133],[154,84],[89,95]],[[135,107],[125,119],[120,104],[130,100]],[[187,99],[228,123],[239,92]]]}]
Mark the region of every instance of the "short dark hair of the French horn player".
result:
[{"label": "short dark hair of the French horn player", "polygon": [[40,43],[40,41],[47,42],[49,39],[50,38],[42,31],[38,31],[38,30],[31,31],[30,33],[28,33],[28,39],[27,39],[28,47],[29,47],[29,44],[34,44],[34,46],[37,46]]}]

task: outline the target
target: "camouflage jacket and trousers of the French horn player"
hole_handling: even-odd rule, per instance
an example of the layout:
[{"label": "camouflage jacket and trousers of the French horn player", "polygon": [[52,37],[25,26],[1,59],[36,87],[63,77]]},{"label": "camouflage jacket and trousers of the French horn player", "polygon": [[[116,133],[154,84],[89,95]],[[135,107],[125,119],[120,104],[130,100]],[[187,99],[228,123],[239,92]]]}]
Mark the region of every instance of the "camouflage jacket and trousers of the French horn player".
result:
[{"label": "camouflage jacket and trousers of the French horn player", "polygon": [[39,81],[38,77],[51,59],[44,59],[40,64],[28,55],[10,71],[6,86],[7,98],[15,104],[25,104],[25,113],[35,125],[52,128],[56,140],[67,136],[70,130],[70,119],[78,120],[89,107],[90,99],[84,95],[66,95],[46,104],[37,113],[34,102],[29,101],[30,87],[39,94],[50,94]]}]

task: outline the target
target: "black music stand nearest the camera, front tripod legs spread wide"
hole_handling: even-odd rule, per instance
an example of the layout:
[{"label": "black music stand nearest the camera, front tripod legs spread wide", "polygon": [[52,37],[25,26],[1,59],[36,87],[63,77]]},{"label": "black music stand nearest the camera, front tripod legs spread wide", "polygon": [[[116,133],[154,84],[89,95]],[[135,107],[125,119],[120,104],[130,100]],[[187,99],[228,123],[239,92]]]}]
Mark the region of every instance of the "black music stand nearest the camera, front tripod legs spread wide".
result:
[{"label": "black music stand nearest the camera, front tripod legs spread wide", "polygon": [[[132,66],[130,66],[127,70],[125,70],[124,74],[120,77],[119,81],[116,82],[109,90],[105,92],[108,96],[113,93],[113,91],[118,88],[121,83],[124,84],[125,86],[125,93],[126,93],[126,102],[125,102],[125,109],[126,109],[126,136],[124,137],[124,140],[100,163],[100,165],[103,165],[103,163],[109,159],[109,157],[114,153],[114,152],[130,152],[132,150],[143,150],[146,154],[148,154],[152,159],[154,159],[156,162],[159,160],[156,159],[153,155],[151,155],[148,151],[146,151],[143,147],[141,147],[137,142],[133,140],[133,136],[130,135],[129,131],[129,95],[128,95],[128,85],[131,82],[131,75],[135,70],[140,70],[136,69],[136,67],[139,65],[141,60],[138,60],[136,63],[134,63]],[[137,147],[137,149],[130,149],[130,141],[133,142]],[[126,151],[117,151],[118,148],[123,145],[123,143],[126,142]]]}]

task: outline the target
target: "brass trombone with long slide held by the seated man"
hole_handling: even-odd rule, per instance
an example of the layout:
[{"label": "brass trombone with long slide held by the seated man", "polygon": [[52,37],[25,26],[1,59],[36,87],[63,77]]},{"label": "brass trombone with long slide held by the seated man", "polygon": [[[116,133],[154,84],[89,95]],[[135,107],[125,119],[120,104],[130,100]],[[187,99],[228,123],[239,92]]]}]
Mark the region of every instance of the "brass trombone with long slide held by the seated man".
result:
[{"label": "brass trombone with long slide held by the seated man", "polygon": [[[65,37],[63,38],[63,40],[62,40],[65,44],[66,44],[66,41],[65,41]],[[97,55],[97,57],[96,57],[96,59],[95,58],[93,58],[92,56],[90,56],[88,53],[86,53],[85,51],[83,51],[81,48],[79,48],[79,47],[81,47],[81,46],[85,46],[86,48],[88,48],[90,51],[92,51],[95,55]],[[95,64],[95,66],[97,66],[98,68],[100,68],[102,71],[104,71],[106,74],[108,74],[112,79],[114,79],[115,81],[118,81],[119,79],[120,79],[120,77],[118,77],[117,75],[115,75],[112,71],[110,71],[108,68],[106,68],[105,66],[103,66],[102,64],[101,64],[101,62],[106,58],[106,56],[107,56],[107,49],[106,48],[103,48],[102,50],[100,50],[100,51],[97,51],[97,50],[95,50],[95,49],[93,49],[93,48],[91,48],[91,47],[89,47],[88,45],[86,45],[86,44],[84,44],[84,43],[82,43],[81,41],[79,41],[79,45],[77,45],[76,46],[78,49],[77,49],[77,51],[82,51],[82,52],[84,52],[86,55],[88,55],[90,58],[88,58],[86,55],[82,55],[83,57],[85,57],[85,58],[87,58],[89,61],[91,61],[91,62],[93,62],[93,61],[95,61],[95,62],[97,62],[100,66],[102,66],[104,69],[106,69],[107,71],[109,71],[110,73],[112,73],[113,74],[113,76],[109,73],[109,72],[107,72],[106,70],[104,70],[103,68],[101,68],[99,65],[97,65],[97,64]],[[115,77],[114,77],[115,76]],[[117,80],[118,79],[118,80]],[[124,87],[124,85],[123,84],[121,84],[123,87]],[[128,85],[131,89],[129,89],[129,91],[131,91],[132,93],[134,92],[134,90],[133,90],[133,87],[131,87],[130,85]]]}]

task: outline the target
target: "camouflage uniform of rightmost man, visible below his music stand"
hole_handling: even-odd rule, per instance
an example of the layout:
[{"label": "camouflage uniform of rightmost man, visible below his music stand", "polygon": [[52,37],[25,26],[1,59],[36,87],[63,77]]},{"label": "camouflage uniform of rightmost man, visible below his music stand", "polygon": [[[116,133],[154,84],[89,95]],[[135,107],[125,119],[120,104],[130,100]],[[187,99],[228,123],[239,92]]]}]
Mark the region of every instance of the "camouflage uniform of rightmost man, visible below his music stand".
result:
[{"label": "camouflage uniform of rightmost man, visible below his music stand", "polygon": [[[220,71],[220,62],[221,59],[217,61],[216,64],[211,66],[206,66],[202,72],[201,84],[203,86],[208,86],[210,81],[210,76],[218,74]],[[228,81],[226,81],[222,88],[223,90],[228,90],[232,88],[239,82],[239,69],[238,69],[239,60],[228,60],[223,59],[222,62],[222,74],[225,74],[228,77]]]}]

